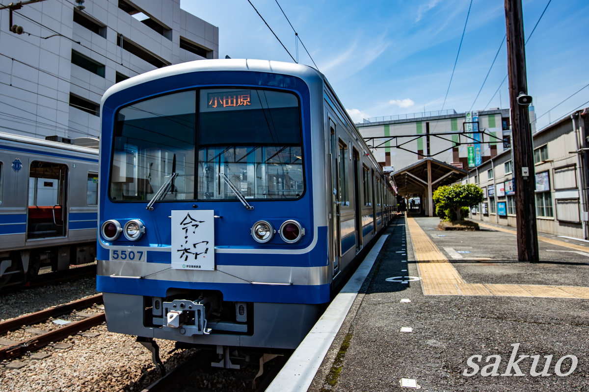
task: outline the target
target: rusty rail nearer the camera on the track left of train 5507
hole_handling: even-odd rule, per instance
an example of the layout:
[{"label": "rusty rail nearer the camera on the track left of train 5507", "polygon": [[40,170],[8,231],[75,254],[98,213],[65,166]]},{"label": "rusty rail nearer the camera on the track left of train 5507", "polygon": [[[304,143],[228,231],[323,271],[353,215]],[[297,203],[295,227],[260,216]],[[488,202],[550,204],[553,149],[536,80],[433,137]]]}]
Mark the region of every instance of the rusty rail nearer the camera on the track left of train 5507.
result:
[{"label": "rusty rail nearer the camera on the track left of train 5507", "polygon": [[41,347],[47,346],[49,343],[54,341],[65,339],[66,337],[73,335],[80,331],[85,331],[91,327],[102,324],[106,318],[104,313],[97,314],[96,316],[88,317],[87,319],[75,321],[75,323],[68,324],[48,333],[44,333],[33,339],[19,341],[18,343],[12,344],[0,348],[0,360],[8,360],[14,357],[21,356],[27,351],[34,351]]}]

